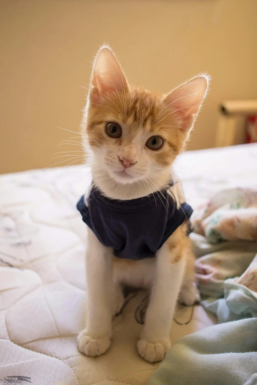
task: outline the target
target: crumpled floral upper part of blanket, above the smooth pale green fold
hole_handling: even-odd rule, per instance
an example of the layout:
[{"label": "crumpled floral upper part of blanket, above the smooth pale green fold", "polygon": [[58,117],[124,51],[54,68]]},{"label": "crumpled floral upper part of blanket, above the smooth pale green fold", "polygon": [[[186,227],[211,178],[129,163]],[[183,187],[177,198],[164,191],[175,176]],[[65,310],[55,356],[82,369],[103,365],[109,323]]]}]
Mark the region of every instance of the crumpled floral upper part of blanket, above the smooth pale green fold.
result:
[{"label": "crumpled floral upper part of blanket, above the smooth pale green fold", "polygon": [[219,323],[257,317],[257,190],[222,190],[196,216],[194,231],[220,245],[196,260],[202,305]]}]

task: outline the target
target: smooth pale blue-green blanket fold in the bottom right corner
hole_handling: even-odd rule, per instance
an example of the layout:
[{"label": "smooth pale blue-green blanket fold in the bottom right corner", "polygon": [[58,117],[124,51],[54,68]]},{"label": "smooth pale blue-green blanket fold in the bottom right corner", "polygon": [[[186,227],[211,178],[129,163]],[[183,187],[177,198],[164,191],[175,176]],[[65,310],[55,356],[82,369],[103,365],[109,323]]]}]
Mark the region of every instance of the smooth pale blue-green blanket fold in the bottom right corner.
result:
[{"label": "smooth pale blue-green blanket fold in the bottom right corner", "polygon": [[149,385],[257,385],[257,319],[210,326],[181,338]]}]

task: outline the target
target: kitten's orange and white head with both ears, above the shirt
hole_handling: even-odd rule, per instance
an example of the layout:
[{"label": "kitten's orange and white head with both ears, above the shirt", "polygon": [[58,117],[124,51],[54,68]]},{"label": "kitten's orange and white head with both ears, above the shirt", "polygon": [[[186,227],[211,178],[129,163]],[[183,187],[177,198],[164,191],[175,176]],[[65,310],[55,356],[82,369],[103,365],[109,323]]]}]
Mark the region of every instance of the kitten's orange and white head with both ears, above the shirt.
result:
[{"label": "kitten's orange and white head with both ears, above the shirt", "polygon": [[166,95],[133,87],[113,52],[101,48],[83,127],[95,167],[123,184],[158,178],[184,148],[208,81],[199,75]]}]

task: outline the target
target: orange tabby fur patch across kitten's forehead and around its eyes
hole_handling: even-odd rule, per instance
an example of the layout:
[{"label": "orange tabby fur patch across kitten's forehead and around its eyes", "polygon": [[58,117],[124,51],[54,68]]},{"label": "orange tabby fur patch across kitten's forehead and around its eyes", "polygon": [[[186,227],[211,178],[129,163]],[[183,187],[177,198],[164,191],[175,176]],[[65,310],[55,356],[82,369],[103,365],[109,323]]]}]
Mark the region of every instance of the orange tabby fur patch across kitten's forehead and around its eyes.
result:
[{"label": "orange tabby fur patch across kitten's forehead and around its eyes", "polygon": [[[115,121],[127,124],[129,128],[128,143],[138,133],[143,131],[149,135],[161,135],[167,145],[161,151],[155,151],[152,156],[161,166],[170,166],[175,157],[183,150],[185,133],[178,129],[180,119],[174,113],[167,111],[163,95],[156,91],[133,87],[123,92],[113,92],[103,96],[97,103],[90,104],[87,117],[87,134],[91,147],[102,147],[113,142],[102,129],[104,122]],[[120,138],[116,145],[120,145]]]}]

